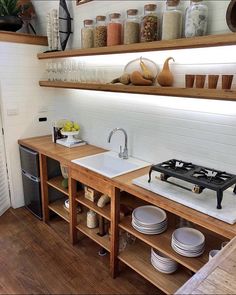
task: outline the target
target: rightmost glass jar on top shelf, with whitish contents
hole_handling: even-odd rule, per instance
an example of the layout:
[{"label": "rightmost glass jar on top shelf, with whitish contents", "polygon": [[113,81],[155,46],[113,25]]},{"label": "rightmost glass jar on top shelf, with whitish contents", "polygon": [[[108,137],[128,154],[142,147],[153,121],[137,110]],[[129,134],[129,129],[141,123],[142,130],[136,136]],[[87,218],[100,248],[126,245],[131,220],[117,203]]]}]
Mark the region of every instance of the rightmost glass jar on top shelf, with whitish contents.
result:
[{"label": "rightmost glass jar on top shelf, with whitish contents", "polygon": [[208,7],[202,0],[192,0],[186,10],[185,37],[204,36],[207,32]]}]

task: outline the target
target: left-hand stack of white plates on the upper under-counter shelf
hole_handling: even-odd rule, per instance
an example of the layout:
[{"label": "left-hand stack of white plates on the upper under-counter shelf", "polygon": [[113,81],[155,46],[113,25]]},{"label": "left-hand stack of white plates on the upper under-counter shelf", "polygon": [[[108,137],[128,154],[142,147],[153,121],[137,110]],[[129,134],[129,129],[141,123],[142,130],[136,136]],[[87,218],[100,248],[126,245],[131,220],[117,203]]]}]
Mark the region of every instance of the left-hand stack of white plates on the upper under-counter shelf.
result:
[{"label": "left-hand stack of white plates on the upper under-counter shelf", "polygon": [[167,228],[166,213],[155,206],[138,207],[132,213],[132,226],[143,234],[160,234]]}]

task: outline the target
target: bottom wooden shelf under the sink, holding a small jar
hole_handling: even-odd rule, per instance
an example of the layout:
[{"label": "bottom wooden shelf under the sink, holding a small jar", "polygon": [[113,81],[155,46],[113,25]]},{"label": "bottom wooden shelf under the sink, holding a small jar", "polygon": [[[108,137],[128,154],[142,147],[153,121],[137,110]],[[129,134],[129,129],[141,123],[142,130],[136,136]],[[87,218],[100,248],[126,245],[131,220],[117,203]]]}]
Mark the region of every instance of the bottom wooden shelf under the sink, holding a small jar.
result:
[{"label": "bottom wooden shelf under the sink, holding a small jar", "polygon": [[83,234],[88,236],[91,240],[102,246],[104,249],[106,249],[108,252],[110,252],[110,241],[108,236],[99,236],[98,228],[88,228],[86,225],[86,213],[78,214],[78,225],[76,228],[81,231]]}]

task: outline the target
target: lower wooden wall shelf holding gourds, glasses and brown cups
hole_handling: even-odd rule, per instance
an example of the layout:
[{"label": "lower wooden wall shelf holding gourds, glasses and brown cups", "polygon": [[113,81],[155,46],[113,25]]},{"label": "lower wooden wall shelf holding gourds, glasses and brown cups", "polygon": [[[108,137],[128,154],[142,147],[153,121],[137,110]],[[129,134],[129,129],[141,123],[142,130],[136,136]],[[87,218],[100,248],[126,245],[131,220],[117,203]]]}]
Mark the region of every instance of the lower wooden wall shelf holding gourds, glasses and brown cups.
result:
[{"label": "lower wooden wall shelf holding gourds, glasses and brown cups", "polygon": [[40,81],[40,86],[53,88],[82,89],[95,91],[123,92],[135,94],[192,97],[200,99],[236,100],[236,91],[200,88],[175,88],[157,86],[132,86],[96,83],[72,83],[61,81]]}]

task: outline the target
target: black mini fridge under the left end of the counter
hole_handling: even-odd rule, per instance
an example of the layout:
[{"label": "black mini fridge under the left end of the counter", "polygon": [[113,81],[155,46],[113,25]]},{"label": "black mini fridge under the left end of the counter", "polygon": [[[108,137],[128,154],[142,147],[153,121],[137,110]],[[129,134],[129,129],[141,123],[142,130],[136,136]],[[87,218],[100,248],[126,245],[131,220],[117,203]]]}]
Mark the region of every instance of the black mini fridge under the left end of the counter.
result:
[{"label": "black mini fridge under the left end of the counter", "polygon": [[25,207],[42,219],[39,154],[21,145],[19,148]]}]

